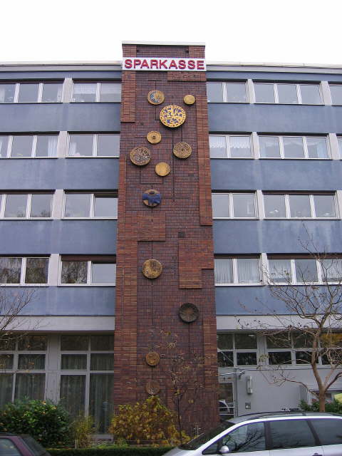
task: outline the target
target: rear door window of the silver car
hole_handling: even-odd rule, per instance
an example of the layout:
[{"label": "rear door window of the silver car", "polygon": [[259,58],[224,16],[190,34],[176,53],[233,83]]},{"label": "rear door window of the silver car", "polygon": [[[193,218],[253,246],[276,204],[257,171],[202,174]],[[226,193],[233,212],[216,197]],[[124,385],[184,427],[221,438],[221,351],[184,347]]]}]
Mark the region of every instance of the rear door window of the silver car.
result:
[{"label": "rear door window of the silver car", "polygon": [[306,420],[279,420],[269,422],[274,450],[316,446]]}]

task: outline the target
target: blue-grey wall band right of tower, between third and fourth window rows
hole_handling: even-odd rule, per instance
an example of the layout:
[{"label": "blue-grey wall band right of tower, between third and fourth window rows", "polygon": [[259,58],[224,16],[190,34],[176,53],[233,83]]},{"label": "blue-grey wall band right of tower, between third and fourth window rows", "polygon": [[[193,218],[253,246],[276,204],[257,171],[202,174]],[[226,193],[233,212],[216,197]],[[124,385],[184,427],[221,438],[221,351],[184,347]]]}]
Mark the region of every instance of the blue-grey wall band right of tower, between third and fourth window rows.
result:
[{"label": "blue-grey wall band right of tower, between third and fourth window rows", "polygon": [[321,252],[342,253],[341,220],[214,221],[215,254],[306,253],[310,239]]}]

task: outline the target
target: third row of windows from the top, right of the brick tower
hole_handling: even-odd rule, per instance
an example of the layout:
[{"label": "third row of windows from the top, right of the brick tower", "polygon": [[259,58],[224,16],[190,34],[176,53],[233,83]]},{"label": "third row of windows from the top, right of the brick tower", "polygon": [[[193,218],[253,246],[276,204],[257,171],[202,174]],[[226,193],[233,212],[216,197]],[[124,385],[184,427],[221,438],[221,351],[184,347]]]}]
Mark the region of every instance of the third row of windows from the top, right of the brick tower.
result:
[{"label": "third row of windows from the top, right of the brick tower", "polygon": [[333,219],[338,217],[335,193],[264,192],[259,207],[255,192],[212,193],[214,219]]}]

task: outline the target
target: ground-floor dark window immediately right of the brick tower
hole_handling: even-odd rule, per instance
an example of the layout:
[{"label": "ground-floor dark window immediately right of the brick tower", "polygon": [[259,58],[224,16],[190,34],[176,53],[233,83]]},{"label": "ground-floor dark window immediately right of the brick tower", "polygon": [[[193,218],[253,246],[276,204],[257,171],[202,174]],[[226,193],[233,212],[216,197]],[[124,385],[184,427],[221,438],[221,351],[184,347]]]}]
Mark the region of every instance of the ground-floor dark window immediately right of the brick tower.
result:
[{"label": "ground-floor dark window immediately right of the brick tower", "polygon": [[247,333],[217,334],[219,367],[257,366],[257,335]]}]

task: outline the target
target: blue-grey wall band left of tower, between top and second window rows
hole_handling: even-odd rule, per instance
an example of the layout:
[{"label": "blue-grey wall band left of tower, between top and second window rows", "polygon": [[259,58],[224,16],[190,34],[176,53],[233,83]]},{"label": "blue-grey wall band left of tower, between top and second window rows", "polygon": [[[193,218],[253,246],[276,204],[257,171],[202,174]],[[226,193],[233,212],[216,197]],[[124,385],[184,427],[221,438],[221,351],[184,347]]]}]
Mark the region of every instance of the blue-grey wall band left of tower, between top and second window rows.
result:
[{"label": "blue-grey wall band left of tower, between top and second window rows", "polygon": [[0,131],[120,131],[120,103],[0,104]]}]

